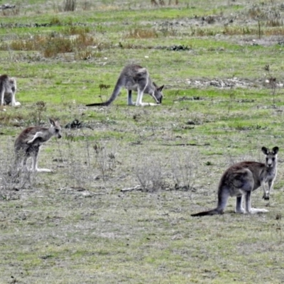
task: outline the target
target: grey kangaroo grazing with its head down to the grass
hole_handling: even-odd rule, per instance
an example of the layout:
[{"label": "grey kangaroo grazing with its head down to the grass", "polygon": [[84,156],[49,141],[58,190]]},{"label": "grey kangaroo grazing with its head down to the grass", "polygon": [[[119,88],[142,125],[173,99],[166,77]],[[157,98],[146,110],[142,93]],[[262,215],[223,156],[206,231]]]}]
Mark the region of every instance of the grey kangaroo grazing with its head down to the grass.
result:
[{"label": "grey kangaroo grazing with its head down to the grass", "polygon": [[[158,87],[154,82],[152,82],[146,68],[143,68],[140,65],[126,65],[126,67],[124,67],[121,71],[119,80],[117,80],[114,91],[107,102],[87,104],[87,107],[109,106],[119,95],[122,87],[127,89],[127,104],[129,106],[156,106],[162,103],[162,90],[164,86]],[[132,102],[132,91],[138,92],[136,104]],[[155,104],[143,103],[142,99],[144,93],[150,94],[155,100]]]}]

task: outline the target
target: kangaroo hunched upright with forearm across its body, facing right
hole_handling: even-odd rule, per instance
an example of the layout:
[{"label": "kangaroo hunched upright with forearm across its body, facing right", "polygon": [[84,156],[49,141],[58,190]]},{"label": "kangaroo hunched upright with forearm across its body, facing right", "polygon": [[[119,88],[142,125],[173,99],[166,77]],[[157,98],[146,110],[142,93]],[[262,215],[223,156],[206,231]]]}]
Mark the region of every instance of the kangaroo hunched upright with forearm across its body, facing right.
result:
[{"label": "kangaroo hunched upright with forearm across its body, facing right", "polygon": [[61,138],[61,127],[58,121],[49,119],[50,128],[41,126],[32,126],[23,130],[21,134],[16,138],[15,141],[15,152],[16,152],[16,167],[26,168],[26,161],[28,158],[33,158],[34,172],[47,172],[50,173],[52,170],[45,168],[38,168],[38,153],[40,146],[48,141],[51,137],[56,136]]}]

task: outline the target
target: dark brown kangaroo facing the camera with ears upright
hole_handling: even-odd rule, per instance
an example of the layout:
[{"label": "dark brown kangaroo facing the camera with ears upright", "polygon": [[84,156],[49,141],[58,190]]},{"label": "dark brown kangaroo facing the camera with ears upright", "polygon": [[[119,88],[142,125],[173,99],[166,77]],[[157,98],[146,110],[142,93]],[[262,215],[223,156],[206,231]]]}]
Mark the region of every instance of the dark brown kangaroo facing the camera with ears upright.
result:
[{"label": "dark brown kangaroo facing the camera with ears upright", "polygon": [[[272,151],[269,151],[268,148],[263,147],[261,150],[266,155],[266,163],[244,161],[232,165],[225,171],[219,182],[217,208],[191,216],[223,214],[230,196],[236,196],[236,213],[268,212],[266,209],[251,208],[251,192],[261,186],[263,188],[263,199],[269,200],[269,194],[277,173],[279,148],[274,147]],[[268,191],[266,190],[266,182],[268,183]],[[241,205],[243,196],[245,197],[245,209]]]}]

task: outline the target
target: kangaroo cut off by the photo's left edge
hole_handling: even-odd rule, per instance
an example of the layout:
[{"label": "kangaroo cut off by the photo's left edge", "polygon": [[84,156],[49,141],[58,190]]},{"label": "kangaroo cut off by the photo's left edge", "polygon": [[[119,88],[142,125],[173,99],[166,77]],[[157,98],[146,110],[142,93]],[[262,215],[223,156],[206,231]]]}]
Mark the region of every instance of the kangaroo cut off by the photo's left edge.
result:
[{"label": "kangaroo cut off by the photo's left edge", "polygon": [[0,96],[1,106],[4,104],[10,104],[13,107],[19,107],[21,104],[16,102],[16,79],[9,77],[8,75],[0,75]]}]

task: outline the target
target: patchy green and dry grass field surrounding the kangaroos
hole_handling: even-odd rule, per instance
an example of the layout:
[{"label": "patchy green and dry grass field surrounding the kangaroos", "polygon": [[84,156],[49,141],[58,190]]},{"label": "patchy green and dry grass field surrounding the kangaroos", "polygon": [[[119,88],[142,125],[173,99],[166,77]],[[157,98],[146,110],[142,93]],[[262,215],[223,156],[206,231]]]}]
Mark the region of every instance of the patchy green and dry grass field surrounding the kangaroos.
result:
[{"label": "patchy green and dry grass field surrounding the kangaroos", "polygon": [[[283,3],[59,2],[0,11],[0,74],[21,102],[0,111],[0,283],[283,283]],[[85,107],[132,62],[165,84],[162,105],[127,107],[123,90]],[[15,182],[13,141],[49,117],[63,136],[39,166],[54,173]],[[190,217],[262,146],[280,148],[271,199],[252,195],[267,214],[235,214],[231,198]]]}]

